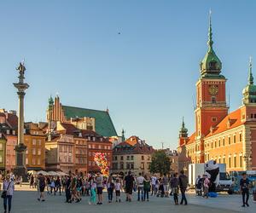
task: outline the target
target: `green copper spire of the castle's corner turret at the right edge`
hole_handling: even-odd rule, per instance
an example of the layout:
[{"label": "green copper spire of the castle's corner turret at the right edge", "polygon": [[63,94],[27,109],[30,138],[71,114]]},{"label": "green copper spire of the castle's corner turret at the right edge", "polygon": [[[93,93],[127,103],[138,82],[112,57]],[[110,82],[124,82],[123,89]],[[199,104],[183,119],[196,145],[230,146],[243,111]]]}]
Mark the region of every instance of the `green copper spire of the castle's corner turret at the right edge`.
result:
[{"label": "green copper spire of the castle's corner turret at the right edge", "polygon": [[242,102],[243,104],[256,104],[256,85],[253,84],[253,63],[252,58],[249,60],[249,74],[247,78],[247,86],[242,90]]}]

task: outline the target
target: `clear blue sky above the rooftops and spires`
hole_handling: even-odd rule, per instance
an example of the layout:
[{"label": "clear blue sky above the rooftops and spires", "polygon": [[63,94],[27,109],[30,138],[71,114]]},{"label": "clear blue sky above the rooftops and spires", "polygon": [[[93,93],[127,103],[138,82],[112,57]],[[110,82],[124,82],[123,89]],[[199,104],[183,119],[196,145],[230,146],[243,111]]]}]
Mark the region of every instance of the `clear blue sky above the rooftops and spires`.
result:
[{"label": "clear blue sky above the rooftops and spires", "polygon": [[18,108],[12,83],[25,58],[26,121],[45,121],[49,95],[58,93],[63,105],[108,106],[119,134],[176,148],[183,116],[189,134],[195,130],[209,9],[232,111],[241,106],[248,58],[256,60],[254,0],[1,1],[0,107]]}]

